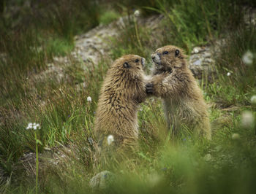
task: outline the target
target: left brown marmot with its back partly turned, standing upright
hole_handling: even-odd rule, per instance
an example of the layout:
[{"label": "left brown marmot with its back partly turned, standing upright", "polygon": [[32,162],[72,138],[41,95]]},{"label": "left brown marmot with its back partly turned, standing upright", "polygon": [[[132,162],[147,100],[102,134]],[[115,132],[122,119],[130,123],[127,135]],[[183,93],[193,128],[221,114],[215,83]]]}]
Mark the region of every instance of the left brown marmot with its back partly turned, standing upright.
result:
[{"label": "left brown marmot with its back partly turned, standing upright", "polygon": [[[114,61],[107,72],[94,125],[101,159],[103,155],[113,155],[119,151],[124,153],[124,150],[131,150],[136,145],[138,104],[147,96],[144,64],[145,58],[124,55]],[[110,149],[114,152],[109,152]]]}]

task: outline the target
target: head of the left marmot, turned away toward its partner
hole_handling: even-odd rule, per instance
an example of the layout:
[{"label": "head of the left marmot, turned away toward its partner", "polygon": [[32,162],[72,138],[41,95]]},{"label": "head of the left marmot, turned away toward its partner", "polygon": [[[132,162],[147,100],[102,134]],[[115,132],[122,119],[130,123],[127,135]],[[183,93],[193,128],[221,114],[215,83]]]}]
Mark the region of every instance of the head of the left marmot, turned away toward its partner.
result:
[{"label": "head of the left marmot, turned away toward its partner", "polygon": [[143,76],[145,58],[138,55],[124,55],[118,58],[112,66],[112,71],[116,77],[128,75],[129,79],[138,79]]}]

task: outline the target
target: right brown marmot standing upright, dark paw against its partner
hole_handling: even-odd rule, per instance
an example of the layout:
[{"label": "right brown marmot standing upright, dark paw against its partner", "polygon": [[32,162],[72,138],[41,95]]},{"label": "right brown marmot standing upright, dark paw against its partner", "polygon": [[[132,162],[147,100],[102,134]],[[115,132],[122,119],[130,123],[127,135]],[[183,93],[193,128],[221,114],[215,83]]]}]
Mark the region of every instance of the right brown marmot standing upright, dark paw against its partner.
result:
[{"label": "right brown marmot standing upright, dark paw against its partner", "polygon": [[152,53],[151,58],[155,66],[146,92],[162,98],[168,128],[174,135],[184,127],[211,139],[208,106],[187,66],[187,55],[167,45]]}]

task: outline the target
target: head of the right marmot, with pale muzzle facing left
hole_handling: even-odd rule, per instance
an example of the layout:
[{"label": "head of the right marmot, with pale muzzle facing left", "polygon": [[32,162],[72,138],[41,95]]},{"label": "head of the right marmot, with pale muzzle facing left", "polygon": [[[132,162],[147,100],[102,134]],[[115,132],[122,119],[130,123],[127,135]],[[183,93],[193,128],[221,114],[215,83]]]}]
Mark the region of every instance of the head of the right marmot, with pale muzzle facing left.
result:
[{"label": "head of the right marmot, with pale muzzle facing left", "polygon": [[151,58],[155,63],[157,71],[173,71],[186,66],[184,58],[187,56],[181,48],[173,45],[158,48],[151,54]]}]

